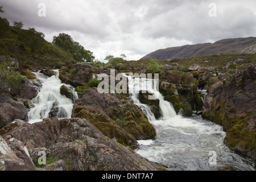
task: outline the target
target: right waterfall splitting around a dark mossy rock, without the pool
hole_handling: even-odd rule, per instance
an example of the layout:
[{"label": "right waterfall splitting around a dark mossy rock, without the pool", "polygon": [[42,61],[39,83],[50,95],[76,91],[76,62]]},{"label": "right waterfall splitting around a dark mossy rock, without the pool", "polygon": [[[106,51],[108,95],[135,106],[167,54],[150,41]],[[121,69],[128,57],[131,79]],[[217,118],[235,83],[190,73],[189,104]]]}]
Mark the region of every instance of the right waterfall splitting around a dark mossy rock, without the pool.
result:
[{"label": "right waterfall splitting around a dark mossy rock, without the pool", "polygon": [[141,107],[142,111],[147,115],[148,121],[155,121],[155,116],[152,113],[150,107],[146,104],[141,104],[139,101],[139,92],[141,90],[148,91],[148,93],[152,94],[152,97],[159,99],[159,108],[160,114],[163,119],[170,119],[175,117],[176,111],[174,110],[174,106],[168,101],[164,100],[162,94],[156,89],[156,85],[158,80],[149,79],[149,78],[133,78],[132,76],[127,76],[129,80],[129,93],[130,98],[134,104]]}]

